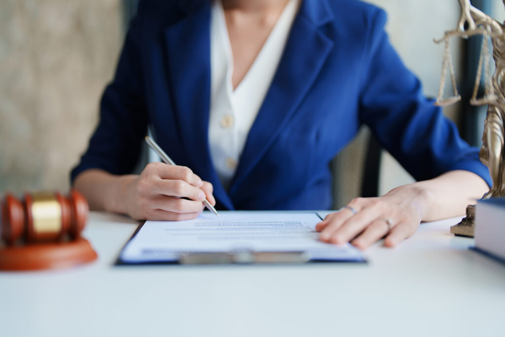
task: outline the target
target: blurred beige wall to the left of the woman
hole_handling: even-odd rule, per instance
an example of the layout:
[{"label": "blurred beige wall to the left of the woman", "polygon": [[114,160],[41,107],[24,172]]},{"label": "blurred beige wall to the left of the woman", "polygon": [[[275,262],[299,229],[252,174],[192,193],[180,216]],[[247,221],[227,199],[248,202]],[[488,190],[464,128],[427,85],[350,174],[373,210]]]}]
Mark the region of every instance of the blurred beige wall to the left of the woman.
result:
[{"label": "blurred beige wall to the left of the woman", "polygon": [[68,189],[117,60],[120,5],[0,1],[0,193]]}]

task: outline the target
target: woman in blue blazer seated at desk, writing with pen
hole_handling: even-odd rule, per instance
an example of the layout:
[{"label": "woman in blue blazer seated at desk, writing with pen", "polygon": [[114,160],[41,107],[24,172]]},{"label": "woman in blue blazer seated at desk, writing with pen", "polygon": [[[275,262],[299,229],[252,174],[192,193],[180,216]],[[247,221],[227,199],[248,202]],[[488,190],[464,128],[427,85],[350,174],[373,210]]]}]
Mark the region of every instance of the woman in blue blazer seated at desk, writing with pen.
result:
[{"label": "woman in blue blazer seated at desk, writing with pen", "polygon": [[[134,219],[194,218],[205,197],[328,209],[328,163],[365,123],[421,181],[352,200],[318,224],[322,240],[395,246],[420,221],[462,214],[487,169],[423,98],[384,23],[356,0],[141,2],[74,186],[93,209]],[[128,175],[147,125],[180,166]]]}]

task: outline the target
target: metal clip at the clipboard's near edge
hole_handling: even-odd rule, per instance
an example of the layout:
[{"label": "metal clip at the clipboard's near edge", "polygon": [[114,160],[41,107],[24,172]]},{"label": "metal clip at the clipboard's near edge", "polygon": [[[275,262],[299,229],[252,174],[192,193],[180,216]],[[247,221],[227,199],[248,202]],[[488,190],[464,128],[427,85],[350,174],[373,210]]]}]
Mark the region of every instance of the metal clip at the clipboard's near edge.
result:
[{"label": "metal clip at the clipboard's near edge", "polygon": [[248,249],[230,252],[181,252],[180,264],[254,264],[254,263],[305,263],[309,252],[255,252]]}]

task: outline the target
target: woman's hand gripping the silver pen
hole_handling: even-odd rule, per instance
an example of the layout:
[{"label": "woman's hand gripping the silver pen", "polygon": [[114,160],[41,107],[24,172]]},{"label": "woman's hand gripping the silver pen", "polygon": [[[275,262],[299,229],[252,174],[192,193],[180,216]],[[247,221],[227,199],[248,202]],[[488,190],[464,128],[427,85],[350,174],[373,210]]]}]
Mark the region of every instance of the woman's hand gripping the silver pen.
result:
[{"label": "woman's hand gripping the silver pen", "polygon": [[206,198],[216,205],[212,184],[185,166],[149,163],[140,175],[121,180],[124,211],[135,220],[189,220],[203,211]]}]

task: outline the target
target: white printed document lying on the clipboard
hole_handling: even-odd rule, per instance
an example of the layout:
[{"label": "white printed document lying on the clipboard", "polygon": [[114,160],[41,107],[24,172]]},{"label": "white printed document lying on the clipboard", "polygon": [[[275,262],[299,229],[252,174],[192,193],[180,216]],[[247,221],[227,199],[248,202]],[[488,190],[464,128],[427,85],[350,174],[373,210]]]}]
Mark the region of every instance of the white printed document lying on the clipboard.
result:
[{"label": "white printed document lying on the clipboard", "polygon": [[146,221],[127,243],[124,263],[175,262],[181,253],[301,252],[310,260],[363,262],[350,244],[318,240],[314,212],[203,212],[187,221]]}]

